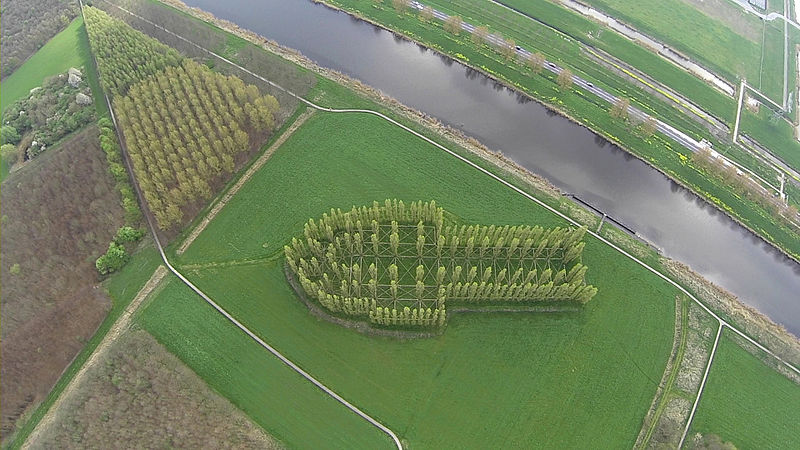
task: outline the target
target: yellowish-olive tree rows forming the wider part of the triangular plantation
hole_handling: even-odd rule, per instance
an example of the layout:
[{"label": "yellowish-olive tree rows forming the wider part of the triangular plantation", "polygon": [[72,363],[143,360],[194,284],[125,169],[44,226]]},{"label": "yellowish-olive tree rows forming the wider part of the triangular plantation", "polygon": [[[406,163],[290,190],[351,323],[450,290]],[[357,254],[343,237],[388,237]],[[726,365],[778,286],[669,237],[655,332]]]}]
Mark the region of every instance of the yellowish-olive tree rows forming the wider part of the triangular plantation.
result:
[{"label": "yellowish-olive tree rows forming the wider part of the triangular plantation", "polygon": [[114,99],[150,210],[162,229],[208,200],[275,125],[278,101],[234,76],[186,59]]}]

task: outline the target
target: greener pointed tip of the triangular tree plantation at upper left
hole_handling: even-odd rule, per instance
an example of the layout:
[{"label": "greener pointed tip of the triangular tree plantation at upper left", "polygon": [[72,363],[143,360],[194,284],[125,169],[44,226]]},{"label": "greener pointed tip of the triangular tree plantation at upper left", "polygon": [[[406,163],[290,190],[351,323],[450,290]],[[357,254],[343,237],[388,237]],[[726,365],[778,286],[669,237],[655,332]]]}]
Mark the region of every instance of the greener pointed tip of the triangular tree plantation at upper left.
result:
[{"label": "greener pointed tip of the triangular tree plantation at upper left", "polygon": [[134,30],[105,11],[84,8],[86,31],[97,59],[103,89],[112,96],[125,94],[134,83],[165,67],[177,66],[183,57],[173,48]]}]

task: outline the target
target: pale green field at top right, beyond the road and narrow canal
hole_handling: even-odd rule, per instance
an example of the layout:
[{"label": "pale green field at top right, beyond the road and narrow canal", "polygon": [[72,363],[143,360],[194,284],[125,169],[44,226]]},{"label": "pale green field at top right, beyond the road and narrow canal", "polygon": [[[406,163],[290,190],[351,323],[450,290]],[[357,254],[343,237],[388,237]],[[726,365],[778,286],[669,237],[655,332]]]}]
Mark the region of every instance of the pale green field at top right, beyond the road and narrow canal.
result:
[{"label": "pale green field at top right, beyond the road and narrow canal", "polygon": [[[519,1],[519,0],[517,0]],[[761,42],[681,0],[591,0],[592,6],[661,40],[735,83],[758,79]],[[757,26],[759,20],[745,16]]]}]

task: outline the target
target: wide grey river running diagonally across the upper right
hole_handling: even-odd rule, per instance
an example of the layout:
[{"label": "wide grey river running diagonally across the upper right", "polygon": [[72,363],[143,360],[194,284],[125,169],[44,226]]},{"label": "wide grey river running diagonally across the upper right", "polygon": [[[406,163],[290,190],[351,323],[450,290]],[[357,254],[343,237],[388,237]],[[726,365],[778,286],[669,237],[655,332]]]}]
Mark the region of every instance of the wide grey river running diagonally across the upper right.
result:
[{"label": "wide grey river running diagonally across the upper right", "polygon": [[800,264],[618,147],[459,63],[303,0],[188,0],[474,136],[800,336]]}]

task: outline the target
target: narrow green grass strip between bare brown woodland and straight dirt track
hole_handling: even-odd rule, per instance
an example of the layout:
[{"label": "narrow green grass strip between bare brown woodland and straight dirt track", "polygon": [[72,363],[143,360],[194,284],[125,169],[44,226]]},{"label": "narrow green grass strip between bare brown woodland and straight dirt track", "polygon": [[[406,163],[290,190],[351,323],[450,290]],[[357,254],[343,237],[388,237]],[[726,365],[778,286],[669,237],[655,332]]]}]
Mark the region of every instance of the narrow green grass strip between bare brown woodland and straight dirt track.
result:
[{"label": "narrow green grass strip between bare brown woodland and straight dirt track", "polygon": [[91,356],[94,349],[97,348],[106,333],[108,333],[108,330],[114,322],[116,322],[131,300],[133,300],[136,293],[139,292],[139,289],[144,286],[160,262],[161,259],[155,247],[152,245],[144,246],[133,255],[131,261],[129,261],[122,270],[103,283],[103,287],[108,291],[112,299],[112,306],[108,315],[100,324],[100,327],[92,338],[86,343],[81,352],[78,353],[61,375],[61,378],[59,378],[56,385],[53,386],[47,398],[36,407],[33,414],[31,414],[24,425],[11,436],[12,439],[8,441],[8,445],[4,445],[4,447],[16,449],[22,446],[25,439],[27,439],[36,425],[39,424],[39,421],[42,420],[42,417],[53,405],[53,402],[61,395],[64,388],[72,381],[72,378],[78,370],[80,370],[89,356]]}]

